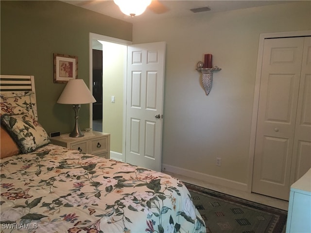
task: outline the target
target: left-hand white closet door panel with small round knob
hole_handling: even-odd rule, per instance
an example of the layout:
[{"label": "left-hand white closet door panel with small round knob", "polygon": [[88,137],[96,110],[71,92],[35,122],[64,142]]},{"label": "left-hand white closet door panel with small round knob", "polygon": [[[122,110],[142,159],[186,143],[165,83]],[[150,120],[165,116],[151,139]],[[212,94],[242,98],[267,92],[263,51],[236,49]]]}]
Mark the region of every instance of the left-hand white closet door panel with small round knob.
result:
[{"label": "left-hand white closet door panel with small round knob", "polygon": [[265,39],[252,191],[288,200],[303,37]]}]

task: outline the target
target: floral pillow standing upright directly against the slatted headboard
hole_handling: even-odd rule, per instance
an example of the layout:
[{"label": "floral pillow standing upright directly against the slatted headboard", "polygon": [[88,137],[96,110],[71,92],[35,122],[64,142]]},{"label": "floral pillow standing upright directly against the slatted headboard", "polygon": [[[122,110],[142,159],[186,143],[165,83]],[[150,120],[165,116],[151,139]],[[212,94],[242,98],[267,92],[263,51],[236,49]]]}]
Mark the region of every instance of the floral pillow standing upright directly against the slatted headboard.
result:
[{"label": "floral pillow standing upright directly against the slatted headboard", "polygon": [[35,92],[1,92],[1,115],[27,114],[38,120]]}]

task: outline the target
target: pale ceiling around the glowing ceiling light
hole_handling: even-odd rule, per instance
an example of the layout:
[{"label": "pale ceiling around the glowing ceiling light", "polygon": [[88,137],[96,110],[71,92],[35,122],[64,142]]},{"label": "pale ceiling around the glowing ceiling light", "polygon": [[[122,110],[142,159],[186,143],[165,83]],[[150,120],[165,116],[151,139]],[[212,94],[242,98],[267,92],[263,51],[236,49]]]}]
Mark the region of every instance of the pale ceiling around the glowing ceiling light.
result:
[{"label": "pale ceiling around the glowing ceiling light", "polygon": [[[167,12],[163,14],[155,14],[147,8],[140,16],[131,18],[121,13],[119,7],[113,0],[63,0],[72,5],[86,8],[110,17],[118,18],[127,22],[135,23],[138,20],[160,19],[168,17],[183,17],[193,14],[210,14],[214,12],[223,12],[229,10],[237,10],[242,8],[250,8],[257,6],[265,6],[272,4],[282,4],[291,2],[291,0],[160,0],[166,6]],[[207,12],[192,13],[190,9],[199,7],[209,7],[211,10]]]}]

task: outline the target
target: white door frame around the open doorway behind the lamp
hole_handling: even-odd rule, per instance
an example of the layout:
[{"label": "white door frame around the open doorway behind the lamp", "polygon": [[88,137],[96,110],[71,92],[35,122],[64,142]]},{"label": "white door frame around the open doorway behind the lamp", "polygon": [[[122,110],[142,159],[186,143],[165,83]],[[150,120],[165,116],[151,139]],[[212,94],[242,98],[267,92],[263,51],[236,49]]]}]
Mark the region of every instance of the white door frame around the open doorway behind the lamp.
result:
[{"label": "white door frame around the open doorway behind the lamp", "polygon": [[[89,33],[89,89],[91,91],[91,93],[93,92],[93,51],[92,51],[92,41],[93,40],[101,40],[101,41],[106,41],[106,42],[111,42],[111,43],[115,43],[115,44],[121,44],[121,45],[132,45],[133,42],[132,41],[128,41],[128,40],[122,40],[122,39],[118,39],[115,37],[110,37],[110,36],[106,36],[106,35],[101,35],[101,34],[96,34],[96,33]],[[125,58],[127,60],[127,58]],[[122,161],[125,161],[125,139],[126,139],[126,86],[127,86],[127,67],[124,67],[124,83],[123,83],[123,93],[125,93],[123,95],[123,117],[122,117]],[[93,114],[93,105],[92,103],[89,104],[89,125],[90,128],[92,128],[92,114]]]}]

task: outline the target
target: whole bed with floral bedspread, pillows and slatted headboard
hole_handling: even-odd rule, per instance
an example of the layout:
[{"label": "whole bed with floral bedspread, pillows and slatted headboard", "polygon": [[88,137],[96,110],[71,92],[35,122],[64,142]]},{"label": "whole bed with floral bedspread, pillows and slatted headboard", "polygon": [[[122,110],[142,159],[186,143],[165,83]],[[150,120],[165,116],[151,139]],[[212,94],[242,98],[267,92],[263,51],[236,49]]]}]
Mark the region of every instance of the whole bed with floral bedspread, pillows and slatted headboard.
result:
[{"label": "whole bed with floral bedspread, pillows and slatted headboard", "polygon": [[1,76],[0,96],[1,233],[206,232],[172,176],[51,144],[33,76]]}]

